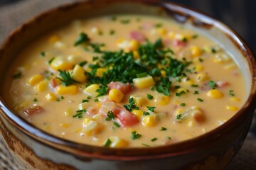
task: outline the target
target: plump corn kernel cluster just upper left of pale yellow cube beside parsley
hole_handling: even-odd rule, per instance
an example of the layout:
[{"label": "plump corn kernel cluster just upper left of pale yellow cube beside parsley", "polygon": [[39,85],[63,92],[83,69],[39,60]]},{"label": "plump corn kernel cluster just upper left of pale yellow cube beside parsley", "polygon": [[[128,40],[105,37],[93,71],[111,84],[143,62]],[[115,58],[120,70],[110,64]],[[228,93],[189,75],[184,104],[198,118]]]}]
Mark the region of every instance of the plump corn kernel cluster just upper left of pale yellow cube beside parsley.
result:
[{"label": "plump corn kernel cluster just upper left of pale yellow cube beside parsley", "polygon": [[73,69],[73,64],[71,62],[65,61],[63,57],[55,57],[55,59],[50,62],[50,67],[55,70],[68,70]]}]

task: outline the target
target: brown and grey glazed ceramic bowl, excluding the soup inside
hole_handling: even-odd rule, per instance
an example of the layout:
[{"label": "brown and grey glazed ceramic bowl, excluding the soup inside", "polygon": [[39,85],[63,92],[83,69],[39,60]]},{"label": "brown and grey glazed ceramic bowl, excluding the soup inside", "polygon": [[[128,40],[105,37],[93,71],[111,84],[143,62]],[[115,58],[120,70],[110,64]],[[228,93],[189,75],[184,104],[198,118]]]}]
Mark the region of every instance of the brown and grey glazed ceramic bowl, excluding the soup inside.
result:
[{"label": "brown and grey glazed ceramic bowl, excluding the soup inside", "polygon": [[[6,104],[0,84],[0,133],[24,169],[225,169],[242,146],[256,108],[256,64],[250,48],[223,23],[183,6],[157,0],[80,1],[60,6],[14,30],[0,48],[0,82],[14,57],[29,42],[75,18],[138,13],[174,18],[215,40],[240,65],[247,101],[240,111],[205,135],[173,145],[114,149],[81,145],[38,130]],[[22,40],[22,43],[21,43]]]}]

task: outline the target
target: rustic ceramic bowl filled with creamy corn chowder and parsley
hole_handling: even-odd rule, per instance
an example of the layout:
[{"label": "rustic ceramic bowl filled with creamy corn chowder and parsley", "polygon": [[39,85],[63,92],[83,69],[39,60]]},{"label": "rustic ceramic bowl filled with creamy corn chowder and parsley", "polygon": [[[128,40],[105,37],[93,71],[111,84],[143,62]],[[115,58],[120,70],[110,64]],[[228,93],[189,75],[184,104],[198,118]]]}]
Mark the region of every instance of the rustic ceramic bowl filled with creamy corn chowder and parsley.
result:
[{"label": "rustic ceramic bowl filled with creamy corn chowder and parsley", "polygon": [[232,29],[160,1],[82,1],[0,49],[0,129],[27,169],[225,169],[255,111]]}]

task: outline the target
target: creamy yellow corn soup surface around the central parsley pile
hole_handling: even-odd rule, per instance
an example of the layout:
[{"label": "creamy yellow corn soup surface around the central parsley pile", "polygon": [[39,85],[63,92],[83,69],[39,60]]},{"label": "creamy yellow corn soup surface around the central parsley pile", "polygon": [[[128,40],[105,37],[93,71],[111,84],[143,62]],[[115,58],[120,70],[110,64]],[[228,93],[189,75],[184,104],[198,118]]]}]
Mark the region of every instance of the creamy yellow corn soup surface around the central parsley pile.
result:
[{"label": "creamy yellow corn soup surface around the central parsley pile", "polygon": [[[83,37],[84,41],[79,41],[81,35],[90,40]],[[88,74],[92,73],[90,64],[102,60],[104,54],[94,52],[91,44],[104,44],[102,51],[122,49],[139,62],[144,57],[138,51],[139,45],[146,45],[146,40],[154,44],[159,38],[164,47],[158,50],[174,52],[164,56],[183,64],[191,62],[181,75],[169,77],[169,94],[156,88],[161,77],[168,77],[164,69],[169,63],[159,61],[155,68],[161,71],[160,75],[150,77],[149,70],[142,72],[141,77],[128,82],[130,86],[126,88],[131,91],[116,87],[110,90],[110,86],[104,96],[97,97],[99,86],[90,86]],[[84,61],[87,64],[82,65]],[[113,67],[98,69],[94,77],[104,77],[102,72]],[[65,86],[60,81],[60,71],[68,72],[77,81]],[[245,101],[242,73],[225,50],[170,19],[147,16],[74,21],[26,47],[8,76],[6,91],[18,115],[63,139],[105,147],[154,147],[188,140],[225,123]],[[133,98],[134,104],[129,105],[129,98]],[[127,111],[124,105],[132,106],[132,110]],[[122,111],[128,115],[122,115]],[[122,122],[122,116],[125,121],[126,116],[132,118],[131,123]]]}]

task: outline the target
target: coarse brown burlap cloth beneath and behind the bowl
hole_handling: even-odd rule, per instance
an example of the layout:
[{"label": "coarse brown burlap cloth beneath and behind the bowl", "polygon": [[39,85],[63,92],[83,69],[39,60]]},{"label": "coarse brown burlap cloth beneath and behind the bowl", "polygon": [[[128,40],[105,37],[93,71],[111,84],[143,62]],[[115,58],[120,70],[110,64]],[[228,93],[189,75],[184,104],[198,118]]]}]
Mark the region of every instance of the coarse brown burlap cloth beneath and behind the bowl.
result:
[{"label": "coarse brown burlap cloth beneath and behind the bowl", "polygon": [[[75,0],[21,0],[15,4],[0,7],[0,43],[21,23],[28,18],[35,16],[42,11],[65,4]],[[256,117],[256,116],[255,116]],[[252,123],[252,128],[247,135],[242,149],[228,166],[228,170],[255,170],[256,169],[256,137],[252,130],[256,130],[256,118]],[[11,157],[6,149],[6,145],[0,137],[0,170],[20,170],[21,166]]]}]

